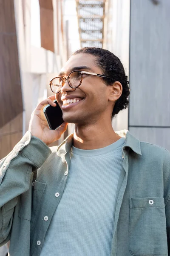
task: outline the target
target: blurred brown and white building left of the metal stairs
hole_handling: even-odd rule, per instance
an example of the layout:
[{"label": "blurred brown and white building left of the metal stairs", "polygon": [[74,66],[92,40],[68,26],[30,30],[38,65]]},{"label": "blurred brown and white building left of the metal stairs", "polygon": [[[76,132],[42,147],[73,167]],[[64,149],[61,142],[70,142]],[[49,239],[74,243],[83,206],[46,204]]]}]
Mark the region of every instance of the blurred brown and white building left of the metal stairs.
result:
[{"label": "blurred brown and white building left of the metal stairs", "polygon": [[0,159],[71,53],[62,0],[0,0]]}]

